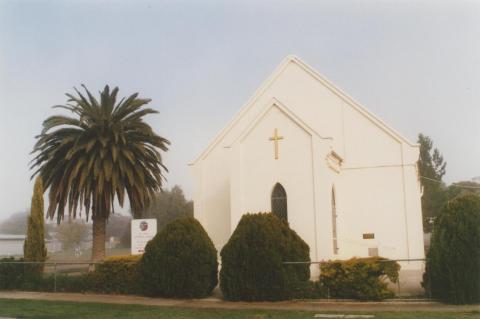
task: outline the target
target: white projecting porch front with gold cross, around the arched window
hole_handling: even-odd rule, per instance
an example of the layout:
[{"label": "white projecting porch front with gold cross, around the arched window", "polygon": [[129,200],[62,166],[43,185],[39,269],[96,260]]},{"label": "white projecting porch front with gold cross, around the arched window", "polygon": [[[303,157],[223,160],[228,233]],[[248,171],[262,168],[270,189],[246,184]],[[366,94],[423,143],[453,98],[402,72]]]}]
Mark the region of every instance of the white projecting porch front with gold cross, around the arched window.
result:
[{"label": "white projecting porch front with gold cross, around the arched window", "polygon": [[[279,141],[279,158],[275,159],[274,143],[269,140],[275,128]],[[270,212],[271,194],[276,183],[287,193],[290,226],[309,244],[311,258],[315,253],[315,210],[313,200],[312,137],[278,107],[272,106],[258,125],[240,141],[239,173],[232,198],[232,229],[247,212]]]}]

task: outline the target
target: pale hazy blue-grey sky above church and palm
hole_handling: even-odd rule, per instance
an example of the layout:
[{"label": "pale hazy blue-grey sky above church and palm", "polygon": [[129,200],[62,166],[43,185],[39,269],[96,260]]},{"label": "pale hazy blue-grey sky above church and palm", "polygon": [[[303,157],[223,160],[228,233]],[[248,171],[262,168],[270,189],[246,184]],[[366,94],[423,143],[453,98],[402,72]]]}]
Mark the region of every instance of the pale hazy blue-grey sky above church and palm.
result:
[{"label": "pale hazy blue-grey sky above church and palm", "polygon": [[0,0],[0,219],[30,205],[42,121],[84,83],[140,92],[169,185],[288,54],[411,140],[447,182],[480,175],[480,2]]}]

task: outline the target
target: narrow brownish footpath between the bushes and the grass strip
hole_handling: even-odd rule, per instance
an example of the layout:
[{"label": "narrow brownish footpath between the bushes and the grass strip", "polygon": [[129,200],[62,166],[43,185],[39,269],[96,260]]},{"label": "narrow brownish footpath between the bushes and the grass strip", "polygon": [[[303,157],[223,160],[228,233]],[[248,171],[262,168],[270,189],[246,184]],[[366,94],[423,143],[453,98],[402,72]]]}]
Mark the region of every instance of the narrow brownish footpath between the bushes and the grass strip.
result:
[{"label": "narrow brownish footpath between the bushes and the grass strip", "polygon": [[408,311],[480,311],[479,305],[452,306],[425,300],[389,300],[383,302],[358,302],[345,300],[308,300],[278,302],[230,302],[219,298],[163,299],[125,295],[97,295],[77,293],[11,292],[0,291],[1,299],[50,300],[70,302],[96,302],[108,304],[136,304],[180,308],[220,309],[277,309],[305,311],[356,311],[356,312],[408,312]]}]

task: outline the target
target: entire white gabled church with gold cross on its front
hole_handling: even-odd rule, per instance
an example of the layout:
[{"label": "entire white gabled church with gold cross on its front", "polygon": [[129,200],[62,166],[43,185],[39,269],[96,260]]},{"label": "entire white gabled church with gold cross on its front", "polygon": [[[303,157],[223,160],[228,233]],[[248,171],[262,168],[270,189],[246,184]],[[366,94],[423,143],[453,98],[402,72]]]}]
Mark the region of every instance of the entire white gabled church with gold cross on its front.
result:
[{"label": "entire white gabled church with gold cross on its front", "polygon": [[243,214],[272,211],[312,261],[424,258],[418,158],[419,145],[289,56],[191,164],[194,215],[218,250]]}]

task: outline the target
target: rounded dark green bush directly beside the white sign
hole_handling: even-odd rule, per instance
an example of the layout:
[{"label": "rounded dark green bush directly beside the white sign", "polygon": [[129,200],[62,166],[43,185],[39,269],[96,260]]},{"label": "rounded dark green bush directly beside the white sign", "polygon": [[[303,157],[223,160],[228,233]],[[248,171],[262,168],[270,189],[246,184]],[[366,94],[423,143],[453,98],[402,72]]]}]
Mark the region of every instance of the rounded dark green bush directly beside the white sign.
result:
[{"label": "rounded dark green bush directly beside the white sign", "polygon": [[139,266],[151,296],[201,298],[218,283],[217,251],[194,218],[169,223],[147,243]]}]

